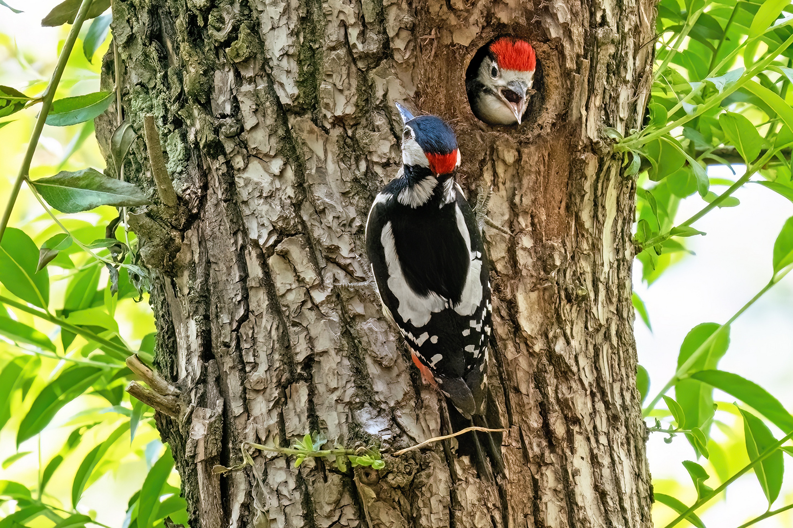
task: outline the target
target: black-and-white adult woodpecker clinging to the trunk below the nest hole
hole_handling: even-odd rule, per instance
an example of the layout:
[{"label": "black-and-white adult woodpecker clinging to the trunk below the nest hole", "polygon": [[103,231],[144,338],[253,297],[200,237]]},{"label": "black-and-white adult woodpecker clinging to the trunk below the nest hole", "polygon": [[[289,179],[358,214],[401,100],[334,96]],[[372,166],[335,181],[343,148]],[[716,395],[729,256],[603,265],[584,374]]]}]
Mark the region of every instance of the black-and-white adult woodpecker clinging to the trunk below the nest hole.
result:
[{"label": "black-and-white adult woodpecker clinging to the trunk below the nest hole", "polygon": [[366,253],[383,311],[413,363],[470,420],[484,412],[492,328],[485,249],[454,180],[454,132],[438,117],[397,108],[404,166],[374,199]]}]

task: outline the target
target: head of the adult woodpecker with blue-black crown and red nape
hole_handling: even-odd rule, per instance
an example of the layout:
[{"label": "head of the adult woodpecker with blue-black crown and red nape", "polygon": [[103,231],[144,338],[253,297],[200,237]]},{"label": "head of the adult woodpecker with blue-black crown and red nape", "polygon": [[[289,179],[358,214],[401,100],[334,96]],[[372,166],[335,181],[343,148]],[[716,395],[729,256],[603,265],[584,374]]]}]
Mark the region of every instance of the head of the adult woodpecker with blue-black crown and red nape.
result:
[{"label": "head of the adult woodpecker with blue-black crown and red nape", "polygon": [[460,165],[457,137],[443,120],[436,116],[414,117],[397,103],[404,122],[402,161],[404,165],[426,167],[435,177],[454,173]]}]

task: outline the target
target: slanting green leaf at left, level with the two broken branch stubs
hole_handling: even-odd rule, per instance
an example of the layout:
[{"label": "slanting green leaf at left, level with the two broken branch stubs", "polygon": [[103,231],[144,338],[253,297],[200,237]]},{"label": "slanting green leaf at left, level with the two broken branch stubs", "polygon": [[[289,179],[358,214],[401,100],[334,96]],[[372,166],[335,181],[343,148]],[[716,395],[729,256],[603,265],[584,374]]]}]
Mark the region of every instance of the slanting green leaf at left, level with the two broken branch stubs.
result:
[{"label": "slanting green leaf at left, level with the two broken branch stubs", "polygon": [[55,381],[44,387],[22,419],[17,431],[17,446],[39,434],[63,405],[84,393],[103,372],[102,368],[82,365],[63,370]]}]

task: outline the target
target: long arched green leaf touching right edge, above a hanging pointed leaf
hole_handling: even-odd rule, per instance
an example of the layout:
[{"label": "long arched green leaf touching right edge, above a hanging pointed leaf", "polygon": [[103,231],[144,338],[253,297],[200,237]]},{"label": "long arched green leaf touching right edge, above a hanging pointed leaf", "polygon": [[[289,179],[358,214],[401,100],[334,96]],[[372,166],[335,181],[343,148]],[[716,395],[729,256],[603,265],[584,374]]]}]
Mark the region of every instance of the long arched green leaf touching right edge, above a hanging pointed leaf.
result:
[{"label": "long arched green leaf touching right edge, above a hanging pointed leaf", "polygon": [[768,418],[772,424],[779,427],[782,431],[793,431],[793,416],[787,409],[768,393],[765,389],[742,378],[738,374],[725,372],[724,370],[700,370],[691,374],[691,378],[714,386],[716,389],[723,390],[730,396],[743,401],[751,406],[763,416]]}]

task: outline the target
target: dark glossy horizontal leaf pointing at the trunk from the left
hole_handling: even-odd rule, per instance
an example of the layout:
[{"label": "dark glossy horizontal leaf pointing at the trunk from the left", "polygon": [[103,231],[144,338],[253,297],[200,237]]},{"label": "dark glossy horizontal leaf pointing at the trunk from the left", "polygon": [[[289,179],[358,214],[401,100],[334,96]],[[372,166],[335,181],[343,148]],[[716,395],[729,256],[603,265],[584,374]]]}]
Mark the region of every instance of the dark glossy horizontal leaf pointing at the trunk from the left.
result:
[{"label": "dark glossy horizontal leaf pointing at the trunk from the left", "polygon": [[149,203],[135,185],[106,177],[94,169],[62,171],[31,182],[52,207],[63,213],[79,213],[99,207],[133,207]]}]

